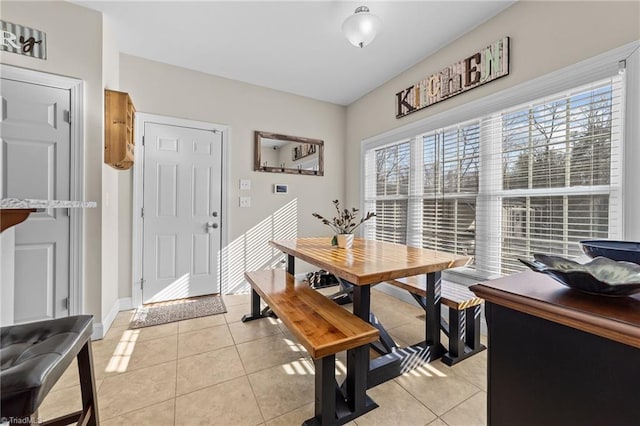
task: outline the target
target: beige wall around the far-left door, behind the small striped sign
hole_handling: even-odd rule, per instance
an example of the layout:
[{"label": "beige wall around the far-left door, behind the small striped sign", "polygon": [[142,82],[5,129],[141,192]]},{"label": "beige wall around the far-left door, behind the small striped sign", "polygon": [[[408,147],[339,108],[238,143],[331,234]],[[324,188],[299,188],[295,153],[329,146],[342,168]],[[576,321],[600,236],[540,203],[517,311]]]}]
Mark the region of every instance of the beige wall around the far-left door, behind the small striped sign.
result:
[{"label": "beige wall around the far-left door, behind the small striped sign", "polygon": [[85,312],[102,318],[101,197],[102,176],[102,17],[67,2],[7,2],[2,19],[47,33],[47,59],[0,53],[0,62],[84,81],[84,199],[98,208],[84,214]]}]

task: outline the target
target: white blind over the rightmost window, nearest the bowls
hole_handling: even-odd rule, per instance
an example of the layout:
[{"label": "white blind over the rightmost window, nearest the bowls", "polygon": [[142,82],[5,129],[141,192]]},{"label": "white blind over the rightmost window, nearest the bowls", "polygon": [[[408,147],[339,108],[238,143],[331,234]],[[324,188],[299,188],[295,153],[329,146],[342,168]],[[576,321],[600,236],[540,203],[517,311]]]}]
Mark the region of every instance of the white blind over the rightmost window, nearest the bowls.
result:
[{"label": "white blind over the rightmost window, nearest the bowls", "polygon": [[616,76],[484,118],[476,268],[507,275],[621,235],[621,97]]}]

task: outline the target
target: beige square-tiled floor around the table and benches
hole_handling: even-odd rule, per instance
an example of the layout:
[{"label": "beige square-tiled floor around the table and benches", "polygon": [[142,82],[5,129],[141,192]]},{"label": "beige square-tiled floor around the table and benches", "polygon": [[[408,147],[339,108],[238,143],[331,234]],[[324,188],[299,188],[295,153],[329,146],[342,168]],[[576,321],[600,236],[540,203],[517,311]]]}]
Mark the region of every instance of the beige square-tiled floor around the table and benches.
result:
[{"label": "beige square-tiled floor around the table and benches", "polygon": [[[224,301],[224,315],[137,330],[128,329],[131,312],[118,315],[93,342],[102,425],[300,425],[313,415],[313,362],[304,348],[276,320],[240,322],[249,295]],[[372,309],[399,344],[422,340],[419,308],[374,289]],[[350,425],[485,425],[486,363],[484,351],[383,383],[368,392],[379,408]],[[39,415],[79,408],[74,363]]]}]

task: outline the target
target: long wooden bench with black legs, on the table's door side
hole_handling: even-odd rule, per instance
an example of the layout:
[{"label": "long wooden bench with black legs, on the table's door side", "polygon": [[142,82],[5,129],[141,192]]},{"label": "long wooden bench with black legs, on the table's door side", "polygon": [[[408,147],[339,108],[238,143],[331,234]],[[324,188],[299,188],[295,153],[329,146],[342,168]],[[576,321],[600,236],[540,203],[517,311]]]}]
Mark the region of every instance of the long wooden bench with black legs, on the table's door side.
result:
[{"label": "long wooden bench with black legs, on the table's door side", "polygon": [[[252,300],[251,315],[242,321],[265,317],[260,312],[262,298],[314,359],[315,417],[304,424],[344,424],[377,407],[366,397],[368,345],[379,336],[375,327],[284,270],[245,272],[244,276],[251,284]],[[349,377],[355,370],[347,366],[346,382],[360,383],[348,383],[347,395],[342,394],[335,378],[335,354],[341,351],[348,351],[348,359],[366,363],[357,378]]]}]

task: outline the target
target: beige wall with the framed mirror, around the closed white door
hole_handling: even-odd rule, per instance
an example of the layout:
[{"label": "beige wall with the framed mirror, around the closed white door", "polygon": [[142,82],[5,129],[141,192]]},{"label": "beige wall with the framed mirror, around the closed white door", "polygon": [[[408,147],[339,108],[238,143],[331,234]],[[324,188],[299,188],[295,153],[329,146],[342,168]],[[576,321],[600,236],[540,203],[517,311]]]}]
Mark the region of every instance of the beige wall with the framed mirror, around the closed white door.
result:
[{"label": "beige wall with the framed mirror, around the closed white door", "polygon": [[[224,291],[239,290],[245,267],[263,266],[256,259],[268,250],[262,231],[272,232],[271,221],[279,227],[293,222],[299,236],[330,235],[329,228],[311,213],[329,214],[331,200],[344,198],[344,107],[124,54],[120,88],[129,92],[139,112],[229,126],[229,245],[225,252],[232,276],[230,283],[223,284]],[[325,175],[254,172],[255,130],[324,140]],[[251,179],[250,191],[240,191],[241,178]],[[289,184],[289,193],[274,194],[275,183]],[[129,197],[126,190],[120,193],[121,199]],[[250,208],[238,206],[241,195],[251,197]],[[295,214],[286,219],[283,209]],[[120,297],[129,296],[124,290]]]}]

